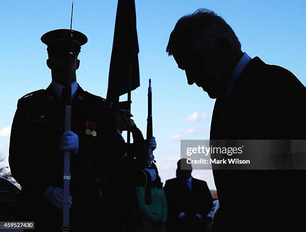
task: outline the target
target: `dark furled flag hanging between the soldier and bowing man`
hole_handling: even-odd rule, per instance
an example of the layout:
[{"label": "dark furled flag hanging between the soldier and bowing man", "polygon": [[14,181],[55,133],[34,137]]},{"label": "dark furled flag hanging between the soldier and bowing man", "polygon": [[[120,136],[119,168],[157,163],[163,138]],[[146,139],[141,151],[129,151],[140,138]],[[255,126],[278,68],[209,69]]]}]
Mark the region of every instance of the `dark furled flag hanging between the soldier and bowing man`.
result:
[{"label": "dark furled flag hanging between the soldier and bowing man", "polygon": [[[107,100],[118,101],[119,96],[139,87],[138,39],[134,0],[118,0],[112,51],[108,74]],[[131,65],[131,71],[129,66]]]}]

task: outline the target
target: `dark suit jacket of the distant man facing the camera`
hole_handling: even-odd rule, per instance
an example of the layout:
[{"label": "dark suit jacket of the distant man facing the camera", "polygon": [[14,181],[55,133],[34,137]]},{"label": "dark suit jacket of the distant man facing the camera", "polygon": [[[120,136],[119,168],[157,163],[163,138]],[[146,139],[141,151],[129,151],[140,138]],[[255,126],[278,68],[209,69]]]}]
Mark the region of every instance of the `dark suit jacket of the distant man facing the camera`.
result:
[{"label": "dark suit jacket of the distant man facing the camera", "polygon": [[178,178],[167,180],[164,186],[167,200],[168,216],[167,231],[174,230],[177,225],[178,215],[184,212],[186,215],[200,214],[205,220],[212,207],[212,197],[205,181],[192,177],[191,197],[186,199],[183,184]]}]

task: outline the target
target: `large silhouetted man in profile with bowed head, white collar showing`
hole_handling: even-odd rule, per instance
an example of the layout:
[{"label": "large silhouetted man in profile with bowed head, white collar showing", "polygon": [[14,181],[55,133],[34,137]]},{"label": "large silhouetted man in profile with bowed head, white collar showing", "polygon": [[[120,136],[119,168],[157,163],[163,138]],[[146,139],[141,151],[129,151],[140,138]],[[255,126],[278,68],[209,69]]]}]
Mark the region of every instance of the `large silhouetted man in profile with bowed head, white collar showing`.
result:
[{"label": "large silhouetted man in profile with bowed head, white collar showing", "polygon": [[[305,88],[290,71],[250,58],[231,27],[207,9],[177,21],[166,51],[188,84],[216,98],[210,139],[271,140],[279,149],[278,166],[294,165],[288,154],[291,140],[305,139]],[[292,230],[302,222],[294,214],[292,223],[291,212],[297,211],[293,199],[306,206],[303,170],[213,170],[213,176],[222,231]]]}]

